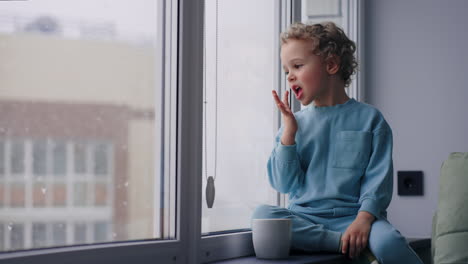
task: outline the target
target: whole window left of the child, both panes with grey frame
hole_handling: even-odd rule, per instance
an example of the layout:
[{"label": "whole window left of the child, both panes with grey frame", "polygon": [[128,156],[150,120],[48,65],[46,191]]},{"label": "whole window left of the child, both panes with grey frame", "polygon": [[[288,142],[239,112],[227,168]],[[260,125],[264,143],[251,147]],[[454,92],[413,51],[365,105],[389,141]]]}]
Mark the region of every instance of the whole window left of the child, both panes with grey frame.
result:
[{"label": "whole window left of the child, both panes with grey frame", "polygon": [[[284,205],[264,168],[280,122],[270,91],[285,89],[277,37],[300,19],[297,3],[2,3],[0,263],[252,254],[251,211]],[[235,112],[239,100],[245,109]],[[225,222],[228,214],[237,220]]]}]

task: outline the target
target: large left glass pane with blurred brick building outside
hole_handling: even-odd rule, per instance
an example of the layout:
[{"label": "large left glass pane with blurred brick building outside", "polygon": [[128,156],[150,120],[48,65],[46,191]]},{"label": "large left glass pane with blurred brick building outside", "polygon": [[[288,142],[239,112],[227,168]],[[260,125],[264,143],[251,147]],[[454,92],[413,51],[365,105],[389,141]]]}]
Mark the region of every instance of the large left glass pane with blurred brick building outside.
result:
[{"label": "large left glass pane with blurred brick building outside", "polygon": [[164,2],[0,5],[0,251],[174,237]]}]

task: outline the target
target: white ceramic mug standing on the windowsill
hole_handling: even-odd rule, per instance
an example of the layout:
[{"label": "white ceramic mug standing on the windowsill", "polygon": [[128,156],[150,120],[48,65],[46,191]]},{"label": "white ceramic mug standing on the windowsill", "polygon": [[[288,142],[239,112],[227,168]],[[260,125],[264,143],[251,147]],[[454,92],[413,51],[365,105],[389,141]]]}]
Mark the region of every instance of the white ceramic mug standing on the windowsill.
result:
[{"label": "white ceramic mug standing on the windowsill", "polygon": [[253,219],[252,241],[257,258],[288,258],[291,225],[291,219]]}]

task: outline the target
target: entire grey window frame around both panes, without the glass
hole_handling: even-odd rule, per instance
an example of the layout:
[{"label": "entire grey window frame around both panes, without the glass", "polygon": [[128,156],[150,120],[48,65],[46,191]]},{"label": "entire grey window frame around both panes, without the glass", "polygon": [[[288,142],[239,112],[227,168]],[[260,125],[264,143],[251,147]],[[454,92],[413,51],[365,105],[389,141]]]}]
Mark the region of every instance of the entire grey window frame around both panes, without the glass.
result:
[{"label": "entire grey window frame around both panes, without the glass", "polygon": [[[362,26],[362,1],[349,1],[357,3],[355,5],[357,9],[352,12],[358,14],[358,25]],[[172,10],[172,13],[176,13],[176,10],[178,10],[178,17],[171,17],[170,25],[166,24],[165,34],[167,38],[168,32],[178,32],[178,59],[169,58],[173,62],[171,65],[177,67],[177,79],[175,80],[175,73],[172,71],[172,74],[163,73],[163,76],[165,76],[163,78],[165,93],[171,94],[169,91],[177,91],[178,102],[175,115],[177,117],[177,137],[174,139],[177,146],[176,149],[168,150],[177,153],[177,165],[174,171],[177,175],[176,194],[173,194],[177,205],[173,213],[177,217],[172,218],[177,221],[175,239],[115,242],[4,253],[0,254],[0,264],[55,264],[62,263],[64,259],[71,264],[84,262],[144,264],[154,263],[155,261],[157,263],[203,263],[254,253],[250,231],[203,238],[201,236],[203,105],[200,102],[203,101],[204,0],[159,0],[157,2],[160,12],[158,15],[161,17],[164,15],[163,10],[166,8]],[[277,25],[278,34],[291,21],[296,21],[298,16],[300,18],[301,12],[300,6],[297,5],[298,2],[300,1],[275,0],[275,15],[279,21]],[[359,39],[362,39],[361,34]],[[358,47],[359,51],[363,50],[362,41]],[[287,84],[279,61],[279,48],[278,43],[277,52],[273,55],[277,58],[278,77],[276,78],[276,84],[277,90],[284,92]],[[362,52],[358,52],[362,62],[361,54]],[[362,81],[359,81],[358,87],[359,91],[363,90]],[[361,94],[362,92],[358,93],[357,98],[363,98]],[[165,113],[166,116],[168,114]],[[273,129],[278,129],[280,126],[281,116],[279,112],[277,116],[275,128]],[[167,130],[167,128],[163,128],[163,130],[165,133],[173,131]],[[278,204],[284,206],[286,202],[286,196],[278,194]]]}]

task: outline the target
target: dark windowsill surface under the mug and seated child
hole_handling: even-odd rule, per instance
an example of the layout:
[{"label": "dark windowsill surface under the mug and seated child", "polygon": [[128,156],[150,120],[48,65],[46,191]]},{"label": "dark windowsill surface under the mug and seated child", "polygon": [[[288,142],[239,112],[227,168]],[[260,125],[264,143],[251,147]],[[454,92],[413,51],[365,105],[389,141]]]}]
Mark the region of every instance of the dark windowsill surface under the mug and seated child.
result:
[{"label": "dark windowsill surface under the mug and seated child", "polygon": [[[411,248],[416,252],[430,249],[431,240],[429,238],[409,238],[407,239]],[[224,261],[217,261],[211,263],[218,264],[244,264],[244,263],[292,263],[292,264],[340,264],[347,263],[346,257],[341,254],[292,254],[288,259],[284,260],[263,260],[257,259],[255,256],[247,256],[242,258],[229,259]]]}]

